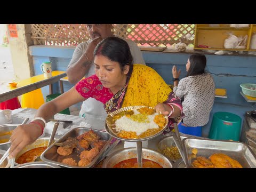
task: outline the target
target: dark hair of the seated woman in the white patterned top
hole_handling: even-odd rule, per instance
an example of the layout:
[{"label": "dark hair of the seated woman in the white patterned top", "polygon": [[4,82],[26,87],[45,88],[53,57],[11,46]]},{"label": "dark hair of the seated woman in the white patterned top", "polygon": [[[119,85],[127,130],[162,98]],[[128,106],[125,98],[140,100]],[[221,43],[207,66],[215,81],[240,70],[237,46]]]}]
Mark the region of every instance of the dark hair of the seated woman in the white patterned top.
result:
[{"label": "dark hair of the seated woman in the white patterned top", "polygon": [[200,75],[204,73],[206,66],[206,57],[203,54],[193,54],[189,57],[190,67],[187,72],[188,76]]}]

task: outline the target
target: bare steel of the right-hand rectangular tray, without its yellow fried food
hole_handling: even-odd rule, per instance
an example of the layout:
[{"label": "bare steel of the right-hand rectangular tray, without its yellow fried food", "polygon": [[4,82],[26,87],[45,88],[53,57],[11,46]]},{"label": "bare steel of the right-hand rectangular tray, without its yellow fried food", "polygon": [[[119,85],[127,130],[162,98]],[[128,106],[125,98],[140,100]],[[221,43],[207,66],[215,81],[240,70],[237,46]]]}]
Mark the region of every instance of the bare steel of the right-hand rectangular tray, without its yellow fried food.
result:
[{"label": "bare steel of the right-hand rectangular tray, without its yellow fried food", "polygon": [[256,168],[256,156],[252,149],[243,142],[227,140],[209,140],[185,138],[182,140],[185,157],[189,166],[195,158],[191,158],[192,149],[198,150],[196,156],[209,158],[214,153],[223,153],[238,161],[244,168]]}]

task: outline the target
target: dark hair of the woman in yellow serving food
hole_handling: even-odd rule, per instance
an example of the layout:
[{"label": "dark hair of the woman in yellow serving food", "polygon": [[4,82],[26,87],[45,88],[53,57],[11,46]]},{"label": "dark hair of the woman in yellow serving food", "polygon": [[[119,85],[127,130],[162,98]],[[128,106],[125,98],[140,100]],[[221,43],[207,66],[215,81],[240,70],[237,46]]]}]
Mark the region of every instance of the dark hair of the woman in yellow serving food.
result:
[{"label": "dark hair of the woman in yellow serving food", "polygon": [[126,41],[118,37],[103,39],[94,49],[93,55],[103,55],[111,61],[119,62],[124,70],[125,65],[132,65],[132,54]]}]

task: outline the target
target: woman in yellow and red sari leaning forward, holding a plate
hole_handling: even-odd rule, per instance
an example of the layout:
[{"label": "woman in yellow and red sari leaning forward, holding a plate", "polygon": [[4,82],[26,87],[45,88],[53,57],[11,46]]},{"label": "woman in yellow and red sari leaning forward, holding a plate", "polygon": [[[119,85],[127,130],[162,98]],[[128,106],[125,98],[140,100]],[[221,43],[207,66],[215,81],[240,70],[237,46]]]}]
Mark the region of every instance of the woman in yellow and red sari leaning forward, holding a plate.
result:
[{"label": "woman in yellow and red sari leaning forward, holding a plate", "polygon": [[11,156],[34,142],[46,126],[46,120],[59,111],[94,98],[105,104],[107,113],[127,106],[155,107],[169,117],[165,132],[170,132],[174,118],[182,113],[179,98],[156,71],[132,65],[129,45],[118,37],[103,39],[94,50],[95,75],[79,81],[69,91],[42,105],[33,121],[19,125],[11,136]]}]

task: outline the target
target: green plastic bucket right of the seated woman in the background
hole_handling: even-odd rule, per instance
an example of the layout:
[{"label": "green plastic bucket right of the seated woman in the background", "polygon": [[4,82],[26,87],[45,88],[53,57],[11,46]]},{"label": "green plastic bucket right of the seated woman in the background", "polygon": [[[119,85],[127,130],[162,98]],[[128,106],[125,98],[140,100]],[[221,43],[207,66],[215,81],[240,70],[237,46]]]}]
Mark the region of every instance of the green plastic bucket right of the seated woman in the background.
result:
[{"label": "green plastic bucket right of the seated woman in the background", "polygon": [[242,119],[228,112],[214,113],[210,139],[239,141]]}]

